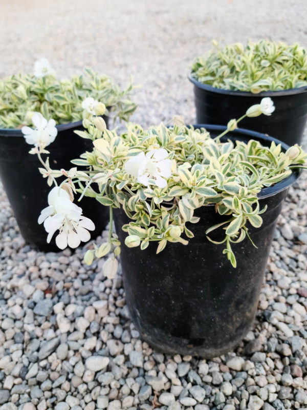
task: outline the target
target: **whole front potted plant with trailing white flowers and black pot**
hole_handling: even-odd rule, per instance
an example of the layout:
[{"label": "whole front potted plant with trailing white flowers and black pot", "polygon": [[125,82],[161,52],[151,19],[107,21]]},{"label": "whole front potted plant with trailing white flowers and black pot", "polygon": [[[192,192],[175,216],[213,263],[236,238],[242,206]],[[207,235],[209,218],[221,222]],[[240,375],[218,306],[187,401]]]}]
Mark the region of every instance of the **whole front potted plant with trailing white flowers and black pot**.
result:
[{"label": "whole front potted plant with trailing white flowers and black pot", "polygon": [[108,240],[85,262],[109,254],[103,272],[113,278],[120,255],[131,318],[163,352],[214,357],[248,332],[282,199],[304,167],[299,146],[237,129],[239,120],[207,130],[128,124],[121,135],[89,124],[93,151],[74,161],[85,172],[65,171],[58,185],[45,163],[55,187],[39,222],[49,239],[64,248],[93,228],[73,209],[74,193],[108,206]]}]

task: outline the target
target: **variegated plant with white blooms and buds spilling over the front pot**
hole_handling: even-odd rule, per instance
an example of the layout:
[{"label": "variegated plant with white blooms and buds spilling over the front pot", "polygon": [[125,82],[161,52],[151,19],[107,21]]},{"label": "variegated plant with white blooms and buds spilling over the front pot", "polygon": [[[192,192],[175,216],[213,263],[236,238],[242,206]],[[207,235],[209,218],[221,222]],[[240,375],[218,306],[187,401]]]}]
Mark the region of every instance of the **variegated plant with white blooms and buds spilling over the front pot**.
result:
[{"label": "variegated plant with white blooms and buds spilling over the front pot", "polygon": [[[270,98],[263,99],[261,104],[249,108],[243,117],[273,112]],[[195,216],[195,210],[214,204],[216,212],[226,215],[226,220],[206,233],[212,240],[213,230],[224,232],[224,239],[219,243],[225,244],[223,253],[235,267],[231,243],[249,237],[248,222],[255,228],[260,227],[260,215],[266,211],[260,209],[257,194],[262,188],[287,178],[293,168],[303,167],[307,158],[297,145],[282,152],[281,146],[274,142],[270,147],[261,146],[255,140],[247,144],[231,140],[222,142],[222,134],[212,139],[205,129],[187,127],[183,122],[169,128],[161,124],[148,130],[128,124],[121,135],[105,129],[103,124],[101,127],[98,124],[99,130],[93,119],[83,120],[83,125],[87,130],[78,131],[78,134],[92,139],[94,146],[92,152],[73,161],[83,171],[77,168],[51,170],[49,163],[43,161],[44,168],[40,171],[48,177],[49,185],[56,184],[56,178],[67,176],[61,182],[63,189],[58,191],[58,196],[68,198],[68,193],[72,197],[79,192],[81,197],[93,197],[109,207],[108,241],[85,254],[85,261],[91,263],[95,255],[102,257],[111,252],[104,264],[108,277],[115,275],[116,256],[120,253],[119,240],[112,234],[113,208],[122,208],[130,219],[123,226],[128,233],[125,240],[128,247],[140,245],[145,249],[149,242],[155,241],[159,253],[168,242],[188,244],[188,239],[193,237],[188,225],[200,219]],[[236,127],[237,121],[229,121],[223,135]],[[47,214],[51,218],[45,228],[49,234],[59,229],[58,237],[62,240],[68,228],[63,228],[64,225],[51,227],[52,218],[56,219],[59,212],[56,207],[52,208],[54,193],[51,197],[51,207],[42,212],[44,218]],[[67,243],[65,239],[63,244]]]}]

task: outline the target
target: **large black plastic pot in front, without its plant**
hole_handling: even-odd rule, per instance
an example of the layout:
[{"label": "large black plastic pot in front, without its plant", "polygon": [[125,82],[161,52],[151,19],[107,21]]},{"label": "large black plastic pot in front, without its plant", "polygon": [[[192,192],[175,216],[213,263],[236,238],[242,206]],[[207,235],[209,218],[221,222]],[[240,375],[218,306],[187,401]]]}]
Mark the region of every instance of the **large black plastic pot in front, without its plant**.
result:
[{"label": "large black plastic pot in front, without its plant", "polygon": [[[221,126],[204,127],[211,136],[225,130]],[[228,133],[227,138],[253,138],[264,145],[273,139],[242,129]],[[282,148],[286,150],[287,146],[282,144]],[[282,200],[298,175],[294,171],[259,193],[260,209],[267,205],[268,210],[261,215],[259,229],[249,226],[257,248],[248,238],[232,244],[237,268],[222,254],[225,244],[213,244],[206,238],[207,228],[229,218],[215,213],[214,205],[195,211],[201,219],[188,227],[195,235],[188,245],[167,243],[158,255],[157,242],[150,242],[144,251],[124,245],[127,233],[121,227],[129,220],[122,209],[115,210],[116,231],[123,244],[126,302],[143,340],[164,353],[204,358],[233,350],[253,324]],[[211,235],[213,232],[215,235]],[[223,239],[221,231],[213,232],[212,239]]]}]

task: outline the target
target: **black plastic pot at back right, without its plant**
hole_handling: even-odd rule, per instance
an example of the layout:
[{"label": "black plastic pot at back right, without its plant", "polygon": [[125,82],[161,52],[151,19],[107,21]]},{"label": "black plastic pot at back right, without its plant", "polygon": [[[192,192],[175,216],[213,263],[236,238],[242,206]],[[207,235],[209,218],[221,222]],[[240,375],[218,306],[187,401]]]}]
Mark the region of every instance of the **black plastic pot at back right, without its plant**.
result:
[{"label": "black plastic pot at back right, without its plant", "polygon": [[307,121],[307,87],[253,94],[214,88],[191,76],[189,80],[194,84],[198,124],[226,126],[230,119],[241,117],[262,98],[271,97],[275,105],[272,115],[244,118],[239,127],[271,135],[290,146],[300,144]]}]

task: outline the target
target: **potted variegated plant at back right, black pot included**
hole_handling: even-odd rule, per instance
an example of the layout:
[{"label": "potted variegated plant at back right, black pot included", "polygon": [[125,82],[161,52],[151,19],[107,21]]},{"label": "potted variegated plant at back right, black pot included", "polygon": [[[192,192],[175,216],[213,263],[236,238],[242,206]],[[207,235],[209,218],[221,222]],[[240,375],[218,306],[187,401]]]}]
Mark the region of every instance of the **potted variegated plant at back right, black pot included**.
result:
[{"label": "potted variegated plant at back right, black pot included", "polygon": [[260,40],[218,47],[197,57],[189,75],[199,124],[226,124],[263,97],[274,98],[274,118],[243,121],[250,130],[300,144],[307,120],[307,51],[298,44]]}]

